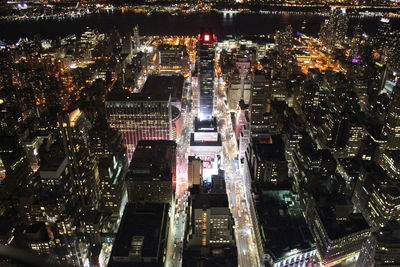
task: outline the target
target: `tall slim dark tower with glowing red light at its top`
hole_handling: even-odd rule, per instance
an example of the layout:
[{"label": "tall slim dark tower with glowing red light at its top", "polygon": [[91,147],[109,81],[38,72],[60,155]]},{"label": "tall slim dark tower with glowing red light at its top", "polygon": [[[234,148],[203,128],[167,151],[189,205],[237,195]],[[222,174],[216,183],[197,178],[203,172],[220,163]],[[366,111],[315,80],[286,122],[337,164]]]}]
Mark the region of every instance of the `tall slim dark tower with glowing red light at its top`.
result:
[{"label": "tall slim dark tower with glowing red light at its top", "polygon": [[210,119],[214,111],[215,42],[211,30],[202,30],[198,35],[197,68],[200,87],[200,120]]}]

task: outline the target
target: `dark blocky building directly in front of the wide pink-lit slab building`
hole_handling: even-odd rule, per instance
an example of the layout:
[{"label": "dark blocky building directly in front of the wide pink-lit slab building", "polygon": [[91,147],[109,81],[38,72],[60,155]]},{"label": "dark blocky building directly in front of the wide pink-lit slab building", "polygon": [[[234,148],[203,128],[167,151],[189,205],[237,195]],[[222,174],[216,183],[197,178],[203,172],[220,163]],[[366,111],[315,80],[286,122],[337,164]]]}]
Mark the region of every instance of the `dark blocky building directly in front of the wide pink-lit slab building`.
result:
[{"label": "dark blocky building directly in front of the wide pink-lit slab building", "polygon": [[126,176],[129,202],[172,203],[176,179],[176,143],[139,141]]}]

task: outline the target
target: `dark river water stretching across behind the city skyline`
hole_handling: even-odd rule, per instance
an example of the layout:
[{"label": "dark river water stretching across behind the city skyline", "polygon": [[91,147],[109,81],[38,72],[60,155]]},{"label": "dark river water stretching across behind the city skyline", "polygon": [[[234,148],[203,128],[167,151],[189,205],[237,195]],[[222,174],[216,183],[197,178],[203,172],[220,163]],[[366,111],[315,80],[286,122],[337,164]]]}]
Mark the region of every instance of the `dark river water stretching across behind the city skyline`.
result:
[{"label": "dark river water stretching across behind the city skyline", "polygon": [[[72,33],[80,34],[87,28],[110,32],[116,27],[121,33],[126,33],[132,31],[132,27],[136,24],[139,25],[141,35],[196,35],[200,27],[211,27],[220,38],[237,34],[270,34],[290,24],[295,31],[316,36],[325,19],[327,17],[312,13],[222,14],[210,12],[176,16],[170,14],[148,16],[115,11],[91,14],[77,19],[2,21],[0,22],[0,40],[15,42],[20,37],[32,38],[35,34],[40,34],[45,39],[53,39]],[[302,29],[303,21],[305,21],[305,29]],[[361,22],[367,34],[374,34],[378,21],[377,17],[351,18],[349,32],[351,33],[357,23]],[[392,22],[394,28],[400,28],[400,19],[393,19]]]}]

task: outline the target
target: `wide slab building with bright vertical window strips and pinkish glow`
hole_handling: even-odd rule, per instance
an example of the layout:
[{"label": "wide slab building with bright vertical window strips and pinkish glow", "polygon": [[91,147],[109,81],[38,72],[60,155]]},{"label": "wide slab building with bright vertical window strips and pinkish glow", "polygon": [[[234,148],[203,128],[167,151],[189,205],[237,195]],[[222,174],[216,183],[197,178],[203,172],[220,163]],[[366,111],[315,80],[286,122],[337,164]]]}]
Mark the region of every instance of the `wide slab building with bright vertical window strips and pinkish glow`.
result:
[{"label": "wide slab building with bright vertical window strips and pinkish glow", "polygon": [[180,135],[182,76],[150,76],[140,93],[114,86],[106,99],[109,126],[124,139],[131,160],[140,140],[172,140]]}]

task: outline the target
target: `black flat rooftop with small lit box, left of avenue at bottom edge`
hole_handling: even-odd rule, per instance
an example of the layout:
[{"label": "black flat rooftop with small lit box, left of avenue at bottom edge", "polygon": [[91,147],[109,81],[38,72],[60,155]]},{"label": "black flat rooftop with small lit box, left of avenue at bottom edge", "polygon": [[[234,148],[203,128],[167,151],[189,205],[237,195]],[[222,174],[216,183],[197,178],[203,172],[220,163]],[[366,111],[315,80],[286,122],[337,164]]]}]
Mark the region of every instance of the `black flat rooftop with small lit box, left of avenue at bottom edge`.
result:
[{"label": "black flat rooftop with small lit box, left of avenue at bottom edge", "polygon": [[107,266],[164,266],[168,209],[165,203],[126,204]]}]

